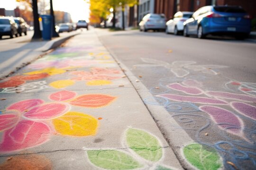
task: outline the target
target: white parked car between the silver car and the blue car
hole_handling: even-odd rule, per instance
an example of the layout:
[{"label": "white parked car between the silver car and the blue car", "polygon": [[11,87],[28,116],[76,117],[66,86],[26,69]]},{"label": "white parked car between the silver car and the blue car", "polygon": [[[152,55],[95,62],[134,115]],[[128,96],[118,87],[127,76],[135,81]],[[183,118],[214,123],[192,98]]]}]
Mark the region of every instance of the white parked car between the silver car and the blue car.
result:
[{"label": "white parked car between the silver car and the blue car", "polygon": [[192,17],[193,12],[179,11],[174,14],[174,18],[166,22],[167,34],[174,33],[177,35],[180,32],[183,32],[183,23],[190,17]]}]

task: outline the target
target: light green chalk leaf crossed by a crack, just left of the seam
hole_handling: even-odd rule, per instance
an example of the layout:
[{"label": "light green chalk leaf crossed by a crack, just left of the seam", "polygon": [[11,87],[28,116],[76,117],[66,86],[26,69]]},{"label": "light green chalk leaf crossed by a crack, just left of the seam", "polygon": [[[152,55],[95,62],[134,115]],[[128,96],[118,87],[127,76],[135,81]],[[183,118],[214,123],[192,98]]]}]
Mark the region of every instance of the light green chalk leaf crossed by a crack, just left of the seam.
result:
[{"label": "light green chalk leaf crossed by a crack, just left of the seam", "polygon": [[148,161],[159,161],[163,155],[159,141],[145,131],[129,128],[126,142],[129,148]]}]

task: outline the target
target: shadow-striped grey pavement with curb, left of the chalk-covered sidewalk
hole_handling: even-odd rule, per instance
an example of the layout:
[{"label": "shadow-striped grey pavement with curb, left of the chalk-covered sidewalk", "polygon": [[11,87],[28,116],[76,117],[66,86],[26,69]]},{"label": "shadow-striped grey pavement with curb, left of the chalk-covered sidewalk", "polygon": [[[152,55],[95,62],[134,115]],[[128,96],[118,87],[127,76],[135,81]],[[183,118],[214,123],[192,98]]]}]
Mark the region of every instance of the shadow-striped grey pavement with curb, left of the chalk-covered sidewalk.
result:
[{"label": "shadow-striped grey pavement with curb, left of the chalk-covered sidewalk", "polygon": [[80,31],[61,34],[60,37],[51,41],[31,42],[33,33],[29,33],[27,36],[0,41],[0,78],[8,76],[10,73],[34,61],[44,52],[58,47],[61,43],[77,34],[80,34]]}]

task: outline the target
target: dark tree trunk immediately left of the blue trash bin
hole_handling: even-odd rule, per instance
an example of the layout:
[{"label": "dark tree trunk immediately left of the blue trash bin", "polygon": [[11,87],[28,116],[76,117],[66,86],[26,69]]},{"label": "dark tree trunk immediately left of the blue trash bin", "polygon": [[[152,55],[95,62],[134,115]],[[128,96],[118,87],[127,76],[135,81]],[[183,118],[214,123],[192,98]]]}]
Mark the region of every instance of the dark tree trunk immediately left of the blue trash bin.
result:
[{"label": "dark tree trunk immediately left of the blue trash bin", "polygon": [[32,0],[32,8],[33,8],[33,17],[34,17],[34,35],[32,39],[39,39],[42,38],[42,33],[40,31],[39,26],[39,15],[38,15],[38,8],[37,8],[37,0]]}]

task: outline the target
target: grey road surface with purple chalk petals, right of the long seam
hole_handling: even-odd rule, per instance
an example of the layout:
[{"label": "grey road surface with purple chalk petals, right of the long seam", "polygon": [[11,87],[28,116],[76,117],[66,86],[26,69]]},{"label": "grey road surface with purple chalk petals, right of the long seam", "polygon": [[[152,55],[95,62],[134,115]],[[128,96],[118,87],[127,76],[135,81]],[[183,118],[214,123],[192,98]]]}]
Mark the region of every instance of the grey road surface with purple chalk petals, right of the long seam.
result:
[{"label": "grey road surface with purple chalk petals, right of the long seam", "polygon": [[[154,96],[141,94],[149,110],[152,105],[163,106],[179,124],[158,126],[181,162],[186,154],[175,144],[186,146],[191,141],[172,134],[175,128],[184,129],[193,143],[215,149],[225,169],[255,168],[254,40],[197,39],[138,30],[97,32],[111,54]],[[166,121],[158,119],[161,113],[155,110],[150,111],[156,122]]]}]

